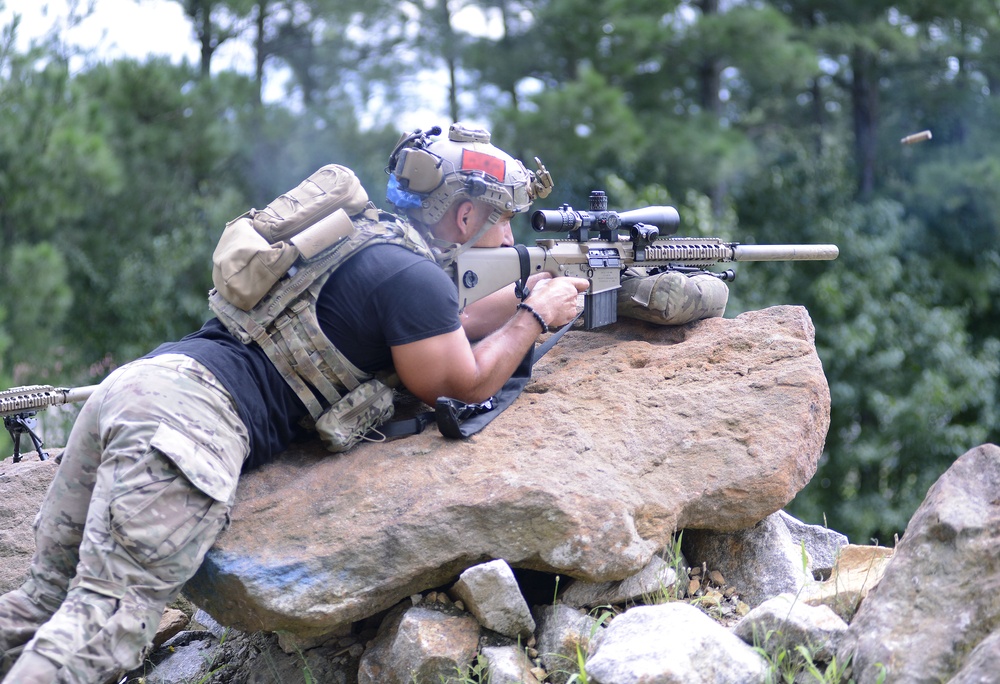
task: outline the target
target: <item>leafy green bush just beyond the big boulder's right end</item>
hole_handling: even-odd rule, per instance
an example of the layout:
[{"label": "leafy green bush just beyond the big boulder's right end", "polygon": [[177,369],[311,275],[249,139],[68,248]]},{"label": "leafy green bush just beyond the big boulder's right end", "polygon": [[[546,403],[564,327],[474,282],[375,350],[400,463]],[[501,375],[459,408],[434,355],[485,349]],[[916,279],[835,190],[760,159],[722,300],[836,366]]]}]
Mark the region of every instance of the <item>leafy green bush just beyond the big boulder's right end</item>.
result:
[{"label": "leafy green bush just beyond the big boulder's right end", "polygon": [[855,206],[827,225],[842,256],[817,278],[810,312],[833,415],[794,510],[826,511],[856,541],[887,543],[940,473],[988,438],[1000,342],[976,344],[967,311],[935,302],[941,283],[929,285],[929,261],[907,253],[916,226],[899,205]]}]

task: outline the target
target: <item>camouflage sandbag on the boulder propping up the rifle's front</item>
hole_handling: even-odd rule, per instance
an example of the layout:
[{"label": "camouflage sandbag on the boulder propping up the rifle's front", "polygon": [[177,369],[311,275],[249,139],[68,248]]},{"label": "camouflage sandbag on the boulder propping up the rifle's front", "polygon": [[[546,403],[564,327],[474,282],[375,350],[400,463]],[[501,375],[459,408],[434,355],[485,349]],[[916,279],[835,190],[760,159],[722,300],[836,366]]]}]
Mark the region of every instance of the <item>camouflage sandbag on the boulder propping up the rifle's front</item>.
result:
[{"label": "camouflage sandbag on the boulder propping up the rifle's front", "polygon": [[660,325],[683,325],[726,312],[729,287],[715,276],[630,271],[618,290],[618,315]]}]

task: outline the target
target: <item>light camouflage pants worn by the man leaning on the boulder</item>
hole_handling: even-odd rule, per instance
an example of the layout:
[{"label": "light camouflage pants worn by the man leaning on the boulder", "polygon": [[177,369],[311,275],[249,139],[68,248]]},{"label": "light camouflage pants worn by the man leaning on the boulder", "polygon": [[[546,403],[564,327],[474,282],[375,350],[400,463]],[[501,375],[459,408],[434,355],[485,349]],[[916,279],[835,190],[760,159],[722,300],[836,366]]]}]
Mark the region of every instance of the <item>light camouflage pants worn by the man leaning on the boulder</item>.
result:
[{"label": "light camouflage pants worn by the man leaning on the boulder", "polygon": [[232,398],[198,362],[112,373],[70,434],[27,581],[0,597],[0,649],[26,644],[3,684],[98,684],[141,664],[225,526],[248,450]]}]

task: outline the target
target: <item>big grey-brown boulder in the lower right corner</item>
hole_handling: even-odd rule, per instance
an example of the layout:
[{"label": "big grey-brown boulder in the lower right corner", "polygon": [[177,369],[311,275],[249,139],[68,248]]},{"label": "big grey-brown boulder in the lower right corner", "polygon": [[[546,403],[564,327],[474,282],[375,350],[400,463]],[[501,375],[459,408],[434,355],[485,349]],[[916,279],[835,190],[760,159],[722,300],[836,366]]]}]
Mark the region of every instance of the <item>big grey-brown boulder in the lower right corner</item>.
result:
[{"label": "big grey-brown boulder in the lower right corner", "polygon": [[[997,681],[974,673],[1000,645],[1000,447],[945,472],[910,518],[882,581],[861,604],[838,660],[861,684]],[[972,655],[970,655],[972,654]]]}]

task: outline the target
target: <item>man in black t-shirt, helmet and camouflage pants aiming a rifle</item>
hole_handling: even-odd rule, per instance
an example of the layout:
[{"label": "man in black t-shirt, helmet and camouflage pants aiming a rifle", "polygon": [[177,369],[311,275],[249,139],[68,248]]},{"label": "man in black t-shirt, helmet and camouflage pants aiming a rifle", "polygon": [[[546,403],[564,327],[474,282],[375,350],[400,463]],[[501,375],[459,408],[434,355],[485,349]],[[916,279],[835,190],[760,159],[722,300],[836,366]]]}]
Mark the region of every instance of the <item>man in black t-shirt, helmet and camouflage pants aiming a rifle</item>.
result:
[{"label": "man in black t-shirt, helmet and camouflage pants aiming a rifle", "polygon": [[387,199],[405,219],[354,188],[287,240],[261,237],[273,212],[232,222],[216,316],[93,391],[36,520],[28,578],[0,597],[4,684],[99,684],[138,666],[226,525],[241,472],[305,427],[350,448],[391,414],[393,375],[429,404],[482,402],[542,332],[577,316],[589,282],[544,272],[526,296],[509,287],[460,307],[446,269],[469,247],[512,245],[510,219],[552,181],[485,130],[439,134],[403,136],[390,156]]}]

